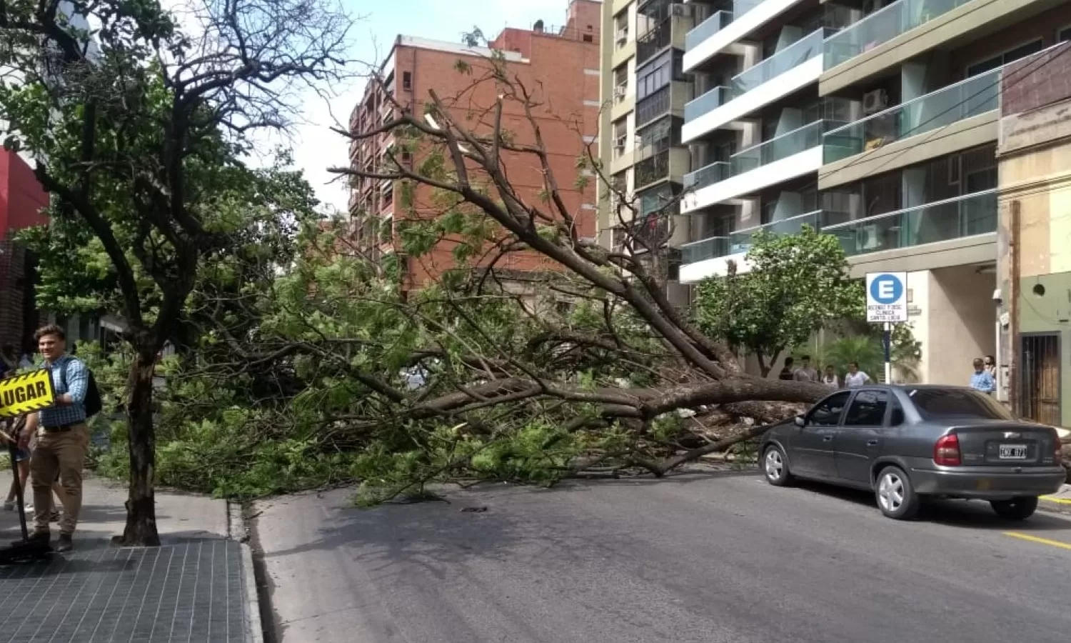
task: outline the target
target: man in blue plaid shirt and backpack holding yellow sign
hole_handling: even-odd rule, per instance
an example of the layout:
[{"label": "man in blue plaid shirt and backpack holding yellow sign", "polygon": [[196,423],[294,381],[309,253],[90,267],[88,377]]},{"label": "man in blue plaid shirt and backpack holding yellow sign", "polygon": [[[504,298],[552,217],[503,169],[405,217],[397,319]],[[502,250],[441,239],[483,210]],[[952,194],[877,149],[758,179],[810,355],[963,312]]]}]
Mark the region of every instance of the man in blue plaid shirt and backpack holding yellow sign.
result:
[{"label": "man in blue plaid shirt and backpack holding yellow sign", "polygon": [[37,447],[30,458],[30,474],[33,477],[33,537],[49,538],[49,496],[58,473],[60,484],[66,493],[56,551],[65,552],[74,547],[72,536],[81,509],[81,468],[89,453],[89,427],[86,424],[85,405],[89,370],[80,359],[66,354],[66,333],[59,326],[45,326],[34,337],[37,349],[45,358],[45,368],[51,372],[56,405],[30,414],[27,418],[27,431],[22,432],[27,443],[32,433],[37,434]]}]

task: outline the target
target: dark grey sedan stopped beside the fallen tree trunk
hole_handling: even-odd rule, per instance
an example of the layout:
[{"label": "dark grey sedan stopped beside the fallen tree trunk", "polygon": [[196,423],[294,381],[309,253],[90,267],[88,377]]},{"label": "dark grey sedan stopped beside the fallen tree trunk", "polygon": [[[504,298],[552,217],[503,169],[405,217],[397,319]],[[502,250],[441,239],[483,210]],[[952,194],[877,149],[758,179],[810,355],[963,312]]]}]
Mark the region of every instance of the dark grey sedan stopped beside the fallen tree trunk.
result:
[{"label": "dark grey sedan stopped beside the fallen tree trunk", "polygon": [[806,478],[873,491],[889,518],[947,497],[989,500],[1023,520],[1066,480],[1060,448],[1054,428],[1017,420],[972,389],[869,386],[774,425],[759,453],[771,484]]}]

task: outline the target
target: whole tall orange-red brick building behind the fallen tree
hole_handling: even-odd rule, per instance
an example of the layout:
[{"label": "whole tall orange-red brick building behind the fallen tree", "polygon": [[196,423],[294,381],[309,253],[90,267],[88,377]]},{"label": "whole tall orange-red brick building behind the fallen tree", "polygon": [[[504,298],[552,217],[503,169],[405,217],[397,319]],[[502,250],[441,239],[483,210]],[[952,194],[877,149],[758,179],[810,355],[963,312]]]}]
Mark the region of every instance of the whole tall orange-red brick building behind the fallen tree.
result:
[{"label": "whole tall orange-red brick building behind the fallen tree", "polygon": [[[398,104],[422,115],[434,92],[451,104],[450,111],[459,122],[478,132],[489,133],[489,109],[500,87],[493,80],[478,81],[491,69],[486,57],[500,51],[511,78],[518,78],[533,94],[533,109],[550,158],[552,170],[563,190],[563,200],[577,222],[578,235],[595,236],[595,180],[592,176],[584,190],[575,188],[576,160],[598,132],[600,53],[599,38],[602,3],[573,0],[565,25],[546,27],[542,21],[532,29],[504,29],[491,49],[398,35],[380,69],[383,86],[369,83],[361,103],[350,116],[350,129],[361,133],[388,122],[394,114],[391,94]],[[458,61],[467,63],[468,72]],[[488,124],[480,125],[481,121]],[[523,106],[506,101],[502,128],[512,132],[517,143],[533,143],[532,128]],[[374,171],[386,163],[386,150],[395,141],[392,135],[353,141],[350,163],[356,168]],[[399,161],[419,166],[422,154],[406,154]],[[514,189],[532,205],[542,206],[545,189],[543,173],[531,155],[503,154],[503,166]],[[406,256],[398,239],[397,220],[403,216],[431,218],[442,213],[433,199],[432,189],[420,185],[412,194],[412,208],[395,208],[402,186],[398,181],[353,178],[349,199],[355,235],[359,245],[373,258],[396,257],[405,287],[414,288],[434,281],[444,270],[457,266],[450,239],[420,257]],[[549,208],[544,207],[549,212]],[[489,260],[477,259],[473,264]],[[496,264],[496,270],[529,272],[554,269],[541,255],[512,253]]]}]

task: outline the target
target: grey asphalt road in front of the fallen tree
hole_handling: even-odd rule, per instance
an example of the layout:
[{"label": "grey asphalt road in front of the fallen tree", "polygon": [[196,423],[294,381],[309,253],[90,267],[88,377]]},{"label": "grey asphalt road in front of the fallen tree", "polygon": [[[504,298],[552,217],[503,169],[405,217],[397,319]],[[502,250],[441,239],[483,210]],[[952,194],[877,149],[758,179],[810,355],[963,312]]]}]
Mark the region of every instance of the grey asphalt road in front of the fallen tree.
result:
[{"label": "grey asphalt road in front of the fallen tree", "polygon": [[896,522],[739,474],[349,497],[257,508],[281,643],[1071,640],[1067,517],[957,502]]}]

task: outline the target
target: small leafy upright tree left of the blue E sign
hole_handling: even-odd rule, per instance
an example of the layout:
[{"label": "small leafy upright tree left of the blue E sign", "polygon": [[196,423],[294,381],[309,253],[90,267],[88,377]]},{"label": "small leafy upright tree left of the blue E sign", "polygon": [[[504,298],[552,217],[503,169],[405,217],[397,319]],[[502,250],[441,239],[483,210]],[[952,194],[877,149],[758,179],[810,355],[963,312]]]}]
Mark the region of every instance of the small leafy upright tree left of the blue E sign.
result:
[{"label": "small leafy upright tree left of the blue E sign", "polygon": [[810,226],[798,235],[759,233],[746,257],[746,274],[734,265],[699,284],[695,313],[704,332],[754,355],[763,377],[786,349],[863,312],[862,285],[849,279],[836,237]]}]

